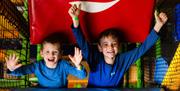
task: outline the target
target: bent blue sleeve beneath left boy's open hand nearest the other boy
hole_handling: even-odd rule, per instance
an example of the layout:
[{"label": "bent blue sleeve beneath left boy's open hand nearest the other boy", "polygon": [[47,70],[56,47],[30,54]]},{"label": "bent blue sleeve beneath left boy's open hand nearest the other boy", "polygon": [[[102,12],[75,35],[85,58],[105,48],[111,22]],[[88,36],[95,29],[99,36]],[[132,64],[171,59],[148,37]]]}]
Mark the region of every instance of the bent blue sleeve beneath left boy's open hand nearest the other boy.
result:
[{"label": "bent blue sleeve beneath left boy's open hand nearest the other boy", "polygon": [[82,66],[81,70],[78,70],[76,67],[72,66],[68,61],[62,61],[62,62],[63,62],[63,67],[65,68],[67,74],[71,74],[80,79],[86,78],[87,73],[84,66]]}]

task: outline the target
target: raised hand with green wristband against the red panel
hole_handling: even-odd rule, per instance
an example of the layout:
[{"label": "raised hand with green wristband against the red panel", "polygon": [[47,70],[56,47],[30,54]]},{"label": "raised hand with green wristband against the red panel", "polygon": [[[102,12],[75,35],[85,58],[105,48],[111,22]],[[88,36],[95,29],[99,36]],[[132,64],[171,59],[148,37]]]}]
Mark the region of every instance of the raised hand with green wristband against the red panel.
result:
[{"label": "raised hand with green wristband against the red panel", "polygon": [[79,4],[78,7],[77,7],[76,4],[73,4],[71,6],[71,8],[69,9],[69,11],[68,11],[69,15],[72,18],[73,25],[74,25],[75,28],[77,28],[79,26],[78,16],[80,14],[80,9],[81,9],[81,4]]}]

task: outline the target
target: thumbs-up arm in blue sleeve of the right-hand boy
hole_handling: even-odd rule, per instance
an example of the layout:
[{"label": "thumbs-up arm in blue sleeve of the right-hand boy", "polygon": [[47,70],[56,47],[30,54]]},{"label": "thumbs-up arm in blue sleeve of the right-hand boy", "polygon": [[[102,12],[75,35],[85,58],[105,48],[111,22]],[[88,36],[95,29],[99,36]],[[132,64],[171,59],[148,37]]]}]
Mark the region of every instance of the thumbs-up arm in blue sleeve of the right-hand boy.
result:
[{"label": "thumbs-up arm in blue sleeve of the right-hand boy", "polygon": [[129,68],[129,66],[134,63],[138,58],[140,58],[145,52],[147,52],[147,50],[149,50],[157,41],[157,39],[159,38],[159,36],[157,35],[157,33],[160,31],[160,29],[162,28],[162,26],[167,22],[167,16],[165,13],[160,13],[159,15],[157,15],[157,12],[155,11],[155,19],[156,19],[156,23],[154,25],[154,29],[153,31],[150,32],[150,34],[147,36],[146,40],[142,43],[141,46],[128,51],[123,55],[125,60],[129,60],[129,61],[125,61],[124,62],[124,68]]}]

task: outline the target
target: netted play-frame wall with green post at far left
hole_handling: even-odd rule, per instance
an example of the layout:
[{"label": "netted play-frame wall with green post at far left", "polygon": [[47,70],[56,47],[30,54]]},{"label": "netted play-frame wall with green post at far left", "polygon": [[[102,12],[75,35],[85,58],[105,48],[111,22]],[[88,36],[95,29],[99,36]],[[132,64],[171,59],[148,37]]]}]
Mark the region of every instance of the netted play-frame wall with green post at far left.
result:
[{"label": "netted play-frame wall with green post at far left", "polygon": [[28,24],[15,6],[18,4],[16,1],[0,0],[0,88],[28,86],[27,76],[16,77],[6,73],[5,57],[9,54],[15,53],[24,65],[29,63]]}]

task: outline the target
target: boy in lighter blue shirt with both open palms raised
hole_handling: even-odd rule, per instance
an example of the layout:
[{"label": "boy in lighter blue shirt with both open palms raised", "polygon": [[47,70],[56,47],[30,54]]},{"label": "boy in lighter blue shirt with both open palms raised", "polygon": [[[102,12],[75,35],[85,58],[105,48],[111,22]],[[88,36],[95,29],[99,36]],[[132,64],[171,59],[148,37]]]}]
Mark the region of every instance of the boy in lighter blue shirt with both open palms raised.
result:
[{"label": "boy in lighter blue shirt with both open palms raised", "polygon": [[86,71],[82,67],[82,53],[75,47],[74,56],[69,58],[74,63],[72,66],[68,61],[61,59],[61,44],[58,36],[51,35],[42,43],[40,51],[43,60],[30,65],[22,66],[18,63],[18,57],[14,54],[6,57],[8,73],[14,76],[22,76],[34,73],[38,78],[40,87],[60,88],[67,87],[67,76],[72,74],[80,79],[86,77]]}]

